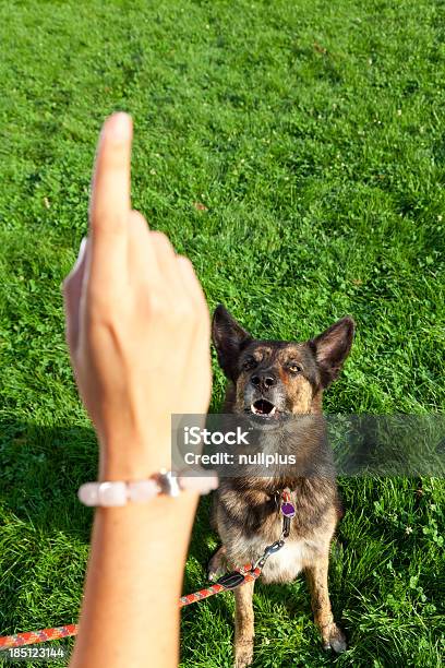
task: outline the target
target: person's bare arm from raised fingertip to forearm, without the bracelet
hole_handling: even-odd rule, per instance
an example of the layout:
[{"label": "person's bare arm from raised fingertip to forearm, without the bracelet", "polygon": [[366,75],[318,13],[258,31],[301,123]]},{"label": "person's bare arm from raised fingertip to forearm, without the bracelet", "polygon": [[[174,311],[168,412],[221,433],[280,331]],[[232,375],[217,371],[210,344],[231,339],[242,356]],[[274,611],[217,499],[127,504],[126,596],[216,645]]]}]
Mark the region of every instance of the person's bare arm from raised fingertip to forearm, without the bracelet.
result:
[{"label": "person's bare arm from raised fingertip to forearm, without the bracelet", "polygon": [[[131,210],[131,140],[125,115],[104,124],[88,238],[63,286],[71,361],[99,439],[99,478],[117,484],[170,467],[171,415],[205,413],[212,384],[208,309],[193,266]],[[96,511],[71,668],[177,664],[196,501],[181,491]]]}]

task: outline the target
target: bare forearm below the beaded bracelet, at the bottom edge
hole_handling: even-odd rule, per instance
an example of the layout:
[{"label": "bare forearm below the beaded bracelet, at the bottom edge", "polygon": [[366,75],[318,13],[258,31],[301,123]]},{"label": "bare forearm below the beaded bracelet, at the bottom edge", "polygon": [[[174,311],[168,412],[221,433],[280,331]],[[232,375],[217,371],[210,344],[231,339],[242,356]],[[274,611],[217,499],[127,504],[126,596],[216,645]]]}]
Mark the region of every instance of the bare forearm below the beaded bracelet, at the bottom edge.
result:
[{"label": "bare forearm below the beaded bracelet, at the bottom edge", "polygon": [[196,500],[183,492],[97,509],[71,668],[141,667],[144,657],[156,668],[177,666],[178,598]]}]

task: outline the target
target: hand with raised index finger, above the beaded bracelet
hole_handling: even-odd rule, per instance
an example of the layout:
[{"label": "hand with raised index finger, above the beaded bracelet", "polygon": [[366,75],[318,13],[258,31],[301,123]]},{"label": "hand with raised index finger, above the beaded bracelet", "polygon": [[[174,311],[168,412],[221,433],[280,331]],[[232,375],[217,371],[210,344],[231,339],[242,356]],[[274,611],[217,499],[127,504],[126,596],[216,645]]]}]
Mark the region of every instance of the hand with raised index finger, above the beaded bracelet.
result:
[{"label": "hand with raised index finger, above the beaded bracelet", "polygon": [[131,211],[132,124],[98,143],[89,236],[63,284],[67,341],[100,443],[103,479],[170,467],[171,414],[206,413],[209,315],[191,262]]}]

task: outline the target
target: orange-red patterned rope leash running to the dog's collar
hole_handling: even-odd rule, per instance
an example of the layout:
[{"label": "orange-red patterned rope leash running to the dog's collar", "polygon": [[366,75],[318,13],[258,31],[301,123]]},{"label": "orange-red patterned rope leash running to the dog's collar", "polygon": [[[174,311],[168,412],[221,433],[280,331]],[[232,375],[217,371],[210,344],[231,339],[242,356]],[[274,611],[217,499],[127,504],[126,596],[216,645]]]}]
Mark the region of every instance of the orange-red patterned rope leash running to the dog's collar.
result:
[{"label": "orange-red patterned rope leash running to the dog's collar", "polygon": [[[278,552],[285,545],[286,538],[290,533],[290,523],[296,515],[296,509],[291,503],[290,490],[286,488],[280,494],[280,512],[282,515],[282,528],[278,540],[264,548],[263,554],[254,562],[248,563],[240,569],[236,569],[230,573],[226,573],[219,577],[215,584],[204,587],[193,594],[187,594],[179,599],[179,607],[184,608],[199,600],[204,600],[209,596],[236,589],[248,582],[257,580],[264,569],[267,559]],[[22,647],[23,645],[34,645],[36,643],[46,643],[47,641],[60,640],[76,635],[79,624],[67,624],[64,627],[53,627],[51,629],[41,629],[40,631],[26,631],[25,633],[13,633],[12,635],[0,636],[0,651],[11,647]]]}]

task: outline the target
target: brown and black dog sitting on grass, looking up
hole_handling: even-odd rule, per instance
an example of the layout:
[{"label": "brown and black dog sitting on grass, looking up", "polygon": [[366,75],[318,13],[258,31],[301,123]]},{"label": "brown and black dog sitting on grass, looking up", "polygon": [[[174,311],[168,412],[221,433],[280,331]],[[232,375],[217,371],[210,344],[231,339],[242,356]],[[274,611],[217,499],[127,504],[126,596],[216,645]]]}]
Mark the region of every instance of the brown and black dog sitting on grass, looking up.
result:
[{"label": "brown and black dog sitting on grass, looking up", "polygon": [[[277,466],[267,475],[220,480],[214,525],[222,546],[211,560],[209,576],[254,562],[267,545],[279,539],[282,523],[277,494],[290,489],[297,511],[290,535],[282,549],[270,556],[261,578],[264,583],[287,583],[304,571],[323,645],[335,652],[346,648],[330,611],[327,587],[329,547],[340,503],[322,396],[340,372],[353,330],[353,320],[344,318],[305,343],[260,341],[222,306],[213,319],[213,342],[229,381],[224,413],[252,415],[268,425],[274,421],[274,429],[260,430],[262,450],[297,453],[299,466]],[[253,658],[253,586],[248,583],[234,591],[238,668],[249,666]]]}]

